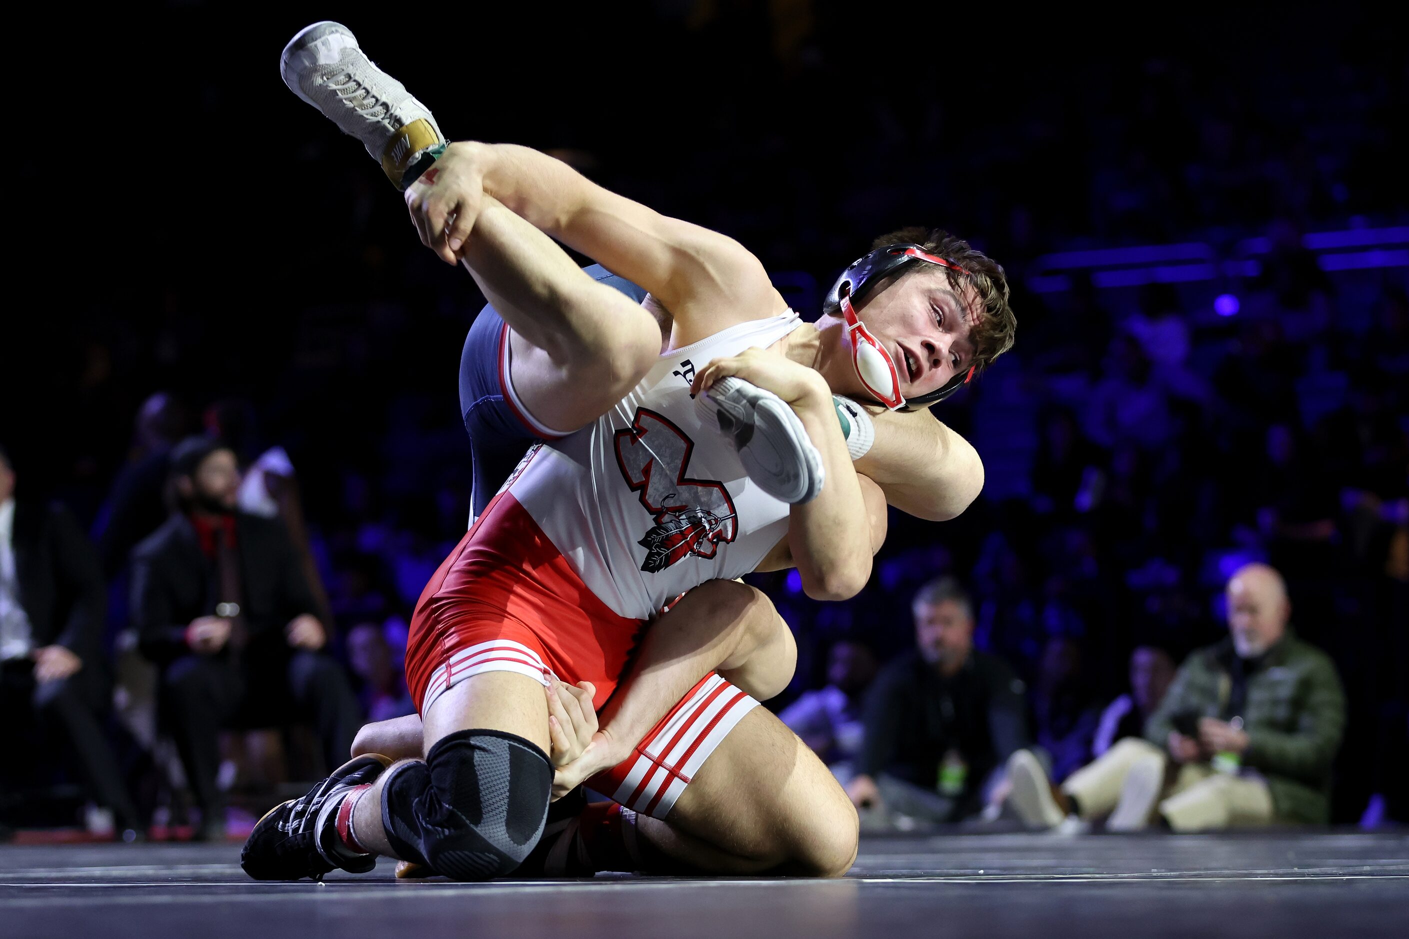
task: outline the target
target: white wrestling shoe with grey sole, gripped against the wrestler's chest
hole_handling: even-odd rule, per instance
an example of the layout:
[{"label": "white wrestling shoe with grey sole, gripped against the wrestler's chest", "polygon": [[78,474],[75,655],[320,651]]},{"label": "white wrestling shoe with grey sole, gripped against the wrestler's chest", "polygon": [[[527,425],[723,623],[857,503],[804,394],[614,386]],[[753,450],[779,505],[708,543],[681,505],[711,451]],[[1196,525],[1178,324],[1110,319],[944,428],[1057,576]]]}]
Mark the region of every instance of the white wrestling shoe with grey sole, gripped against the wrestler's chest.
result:
[{"label": "white wrestling shoe with grey sole, gripped against the wrestler's chest", "polygon": [[719,427],[759,489],[788,503],[812,502],[821,492],[821,454],[782,398],[728,376],[697,395],[695,407],[707,427]]}]

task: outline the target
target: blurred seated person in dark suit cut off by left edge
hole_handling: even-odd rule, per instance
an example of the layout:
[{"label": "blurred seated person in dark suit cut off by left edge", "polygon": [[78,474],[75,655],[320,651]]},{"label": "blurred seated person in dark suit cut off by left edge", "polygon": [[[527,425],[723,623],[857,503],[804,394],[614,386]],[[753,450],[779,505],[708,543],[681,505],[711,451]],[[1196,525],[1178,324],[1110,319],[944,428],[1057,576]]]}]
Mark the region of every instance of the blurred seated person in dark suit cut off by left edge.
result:
[{"label": "blurred seated person in dark suit cut off by left edge", "polygon": [[21,770],[52,773],[72,746],[92,798],[118,830],[139,830],[103,733],[107,596],[97,553],[68,509],[17,499],[14,489],[0,450],[0,713],[13,735],[0,788],[18,788],[11,777]]}]

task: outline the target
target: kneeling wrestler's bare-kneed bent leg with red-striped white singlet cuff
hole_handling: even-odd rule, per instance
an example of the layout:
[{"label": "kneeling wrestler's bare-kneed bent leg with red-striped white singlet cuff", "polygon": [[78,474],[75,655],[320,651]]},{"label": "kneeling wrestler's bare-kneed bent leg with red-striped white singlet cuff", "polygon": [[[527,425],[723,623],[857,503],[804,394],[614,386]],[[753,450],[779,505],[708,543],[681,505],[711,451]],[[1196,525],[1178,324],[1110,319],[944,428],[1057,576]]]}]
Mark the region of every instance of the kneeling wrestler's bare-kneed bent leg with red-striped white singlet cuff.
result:
[{"label": "kneeling wrestler's bare-kneed bent leg with red-striped white singlet cuff", "polygon": [[616,804],[589,805],[545,836],[526,870],[840,877],[855,860],[857,812],[836,778],[719,677],[590,785]]}]

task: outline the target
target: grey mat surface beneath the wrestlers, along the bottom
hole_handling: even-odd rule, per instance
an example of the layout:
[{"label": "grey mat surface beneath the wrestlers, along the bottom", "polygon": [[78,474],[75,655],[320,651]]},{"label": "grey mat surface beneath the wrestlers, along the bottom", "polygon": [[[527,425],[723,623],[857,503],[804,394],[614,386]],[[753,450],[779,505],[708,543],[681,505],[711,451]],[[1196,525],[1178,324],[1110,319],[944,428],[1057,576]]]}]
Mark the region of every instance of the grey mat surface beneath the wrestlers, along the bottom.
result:
[{"label": "grey mat surface beneath the wrestlers, along the bottom", "polygon": [[845,880],[256,884],[235,845],[0,847],[0,936],[1409,936],[1409,835],[869,837]]}]

